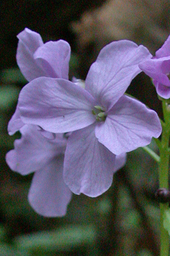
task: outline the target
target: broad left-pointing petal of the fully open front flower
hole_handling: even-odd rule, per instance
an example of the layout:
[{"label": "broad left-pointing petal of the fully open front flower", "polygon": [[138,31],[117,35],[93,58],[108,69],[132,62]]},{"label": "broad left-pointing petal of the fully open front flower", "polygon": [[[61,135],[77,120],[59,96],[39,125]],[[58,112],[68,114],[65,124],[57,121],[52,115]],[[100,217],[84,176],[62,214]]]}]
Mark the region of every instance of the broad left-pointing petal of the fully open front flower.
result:
[{"label": "broad left-pointing petal of the fully open front flower", "polygon": [[64,79],[37,78],[19,96],[22,122],[52,133],[75,131],[95,122],[94,99],[80,86]]}]

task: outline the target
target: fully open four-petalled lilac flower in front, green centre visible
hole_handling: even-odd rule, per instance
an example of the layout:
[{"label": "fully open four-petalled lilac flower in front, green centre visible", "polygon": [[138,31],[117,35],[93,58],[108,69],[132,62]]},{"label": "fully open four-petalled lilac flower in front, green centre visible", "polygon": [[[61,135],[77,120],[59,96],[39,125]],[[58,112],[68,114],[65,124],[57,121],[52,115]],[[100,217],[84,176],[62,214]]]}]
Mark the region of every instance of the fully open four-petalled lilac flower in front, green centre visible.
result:
[{"label": "fully open four-petalled lilac flower in front, green centre visible", "polygon": [[64,181],[75,194],[97,197],[111,186],[116,155],[150,144],[161,134],[153,110],[125,96],[149,51],[131,41],[105,46],[90,67],[85,89],[69,80],[36,78],[19,97],[22,122],[52,133],[72,131]]}]

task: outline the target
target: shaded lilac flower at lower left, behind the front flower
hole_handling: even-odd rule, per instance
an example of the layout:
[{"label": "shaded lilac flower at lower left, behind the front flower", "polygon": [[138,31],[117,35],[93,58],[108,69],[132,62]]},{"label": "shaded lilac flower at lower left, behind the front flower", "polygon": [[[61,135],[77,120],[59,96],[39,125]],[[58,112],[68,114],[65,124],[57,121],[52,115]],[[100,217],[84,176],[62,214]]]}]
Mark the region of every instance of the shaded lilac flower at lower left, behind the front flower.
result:
[{"label": "shaded lilac flower at lower left, behind the front flower", "polygon": [[[35,212],[46,217],[63,216],[72,198],[63,179],[64,152],[67,139],[63,134],[49,140],[36,125],[24,125],[22,138],[14,141],[14,149],[7,153],[9,167],[22,175],[35,172],[28,200]],[[125,164],[126,155],[116,157],[115,171]]]}]

